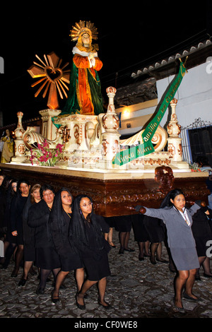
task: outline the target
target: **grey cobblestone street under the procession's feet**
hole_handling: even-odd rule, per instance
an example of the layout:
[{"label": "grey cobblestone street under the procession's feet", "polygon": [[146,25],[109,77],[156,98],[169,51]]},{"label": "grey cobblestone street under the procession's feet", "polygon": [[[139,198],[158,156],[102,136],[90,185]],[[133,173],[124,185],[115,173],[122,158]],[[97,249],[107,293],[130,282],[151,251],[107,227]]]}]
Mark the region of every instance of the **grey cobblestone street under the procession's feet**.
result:
[{"label": "grey cobblestone street under the procession's feet", "polygon": [[[37,275],[29,275],[25,286],[18,286],[22,268],[17,278],[11,277],[13,261],[7,269],[0,271],[0,318],[80,318],[80,319],[141,319],[141,318],[212,318],[212,278],[204,278],[201,269],[201,281],[195,282],[194,294],[201,302],[183,300],[184,314],[173,307],[173,280],[175,273],[169,271],[167,263],[151,264],[148,257],[139,261],[139,249],[131,232],[129,247],[134,252],[124,251],[118,254],[118,234],[114,231],[114,243],[109,254],[112,275],[107,278],[106,300],[112,307],[104,309],[98,300],[97,287],[88,292],[86,310],[76,307],[76,284],[73,273],[65,280],[66,289],[60,292],[60,302],[51,301],[52,281],[47,283],[44,295],[36,295]],[[167,252],[163,247],[163,258]],[[53,280],[53,276],[51,275]]]}]

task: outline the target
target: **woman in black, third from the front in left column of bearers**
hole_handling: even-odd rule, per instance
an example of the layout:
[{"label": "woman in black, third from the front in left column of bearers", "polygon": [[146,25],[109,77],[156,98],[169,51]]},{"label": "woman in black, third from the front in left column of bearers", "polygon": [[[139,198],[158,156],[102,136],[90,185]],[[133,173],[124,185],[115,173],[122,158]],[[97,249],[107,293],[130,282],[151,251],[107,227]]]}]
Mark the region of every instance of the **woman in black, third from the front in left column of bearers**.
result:
[{"label": "woman in black, third from the front in left column of bearers", "polygon": [[45,184],[40,189],[39,203],[30,207],[28,225],[35,228],[35,265],[40,268],[40,284],[37,287],[37,294],[43,294],[47,278],[51,271],[56,280],[60,271],[60,261],[57,251],[54,249],[52,237],[48,232],[48,220],[54,201],[54,189]]}]

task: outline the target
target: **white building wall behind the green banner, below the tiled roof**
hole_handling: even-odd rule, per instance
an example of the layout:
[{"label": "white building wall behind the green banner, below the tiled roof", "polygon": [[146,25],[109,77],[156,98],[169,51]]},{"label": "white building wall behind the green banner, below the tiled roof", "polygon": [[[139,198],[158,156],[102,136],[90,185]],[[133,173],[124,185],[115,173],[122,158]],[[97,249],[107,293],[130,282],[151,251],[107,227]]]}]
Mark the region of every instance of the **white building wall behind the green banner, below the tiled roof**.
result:
[{"label": "white building wall behind the green banner, below the tiled roof", "polygon": [[[124,114],[124,107],[116,109],[117,114],[122,112],[122,127],[119,128],[121,135],[133,135],[143,129],[174,78],[175,76],[170,76],[156,82],[158,99],[127,107],[129,109],[127,115]],[[177,119],[182,128],[199,118],[212,123],[212,61],[189,69],[179,85],[175,98],[178,100]],[[167,129],[168,121],[170,121],[170,107],[166,110],[160,126]]]}]

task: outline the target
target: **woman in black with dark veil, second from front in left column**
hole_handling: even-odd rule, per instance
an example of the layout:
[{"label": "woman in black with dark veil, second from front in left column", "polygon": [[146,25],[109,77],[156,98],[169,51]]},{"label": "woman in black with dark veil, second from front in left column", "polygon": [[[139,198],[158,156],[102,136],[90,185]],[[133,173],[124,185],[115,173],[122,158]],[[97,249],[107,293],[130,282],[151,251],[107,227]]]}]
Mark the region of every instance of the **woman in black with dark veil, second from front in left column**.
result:
[{"label": "woman in black with dark veil, second from front in left column", "polygon": [[70,271],[76,270],[76,284],[81,290],[84,281],[84,268],[81,256],[69,242],[69,225],[72,218],[73,197],[69,189],[57,191],[49,216],[49,232],[52,235],[54,247],[59,254],[61,271],[59,271],[52,292],[52,302],[59,301],[59,288]]}]

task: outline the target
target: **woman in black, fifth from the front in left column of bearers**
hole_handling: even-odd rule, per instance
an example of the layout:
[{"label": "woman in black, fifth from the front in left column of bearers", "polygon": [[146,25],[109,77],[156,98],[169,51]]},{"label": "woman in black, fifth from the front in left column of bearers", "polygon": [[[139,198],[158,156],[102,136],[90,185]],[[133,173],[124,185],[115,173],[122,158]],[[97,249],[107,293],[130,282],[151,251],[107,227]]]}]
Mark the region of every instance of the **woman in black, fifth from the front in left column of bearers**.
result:
[{"label": "woman in black, fifth from the front in left column of bearers", "polygon": [[11,203],[11,232],[14,242],[17,244],[15,268],[11,277],[17,277],[20,263],[23,260],[23,208],[30,194],[30,184],[28,180],[21,179],[18,181],[17,196]]}]

